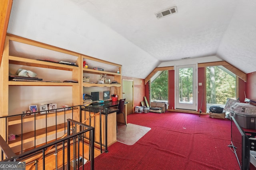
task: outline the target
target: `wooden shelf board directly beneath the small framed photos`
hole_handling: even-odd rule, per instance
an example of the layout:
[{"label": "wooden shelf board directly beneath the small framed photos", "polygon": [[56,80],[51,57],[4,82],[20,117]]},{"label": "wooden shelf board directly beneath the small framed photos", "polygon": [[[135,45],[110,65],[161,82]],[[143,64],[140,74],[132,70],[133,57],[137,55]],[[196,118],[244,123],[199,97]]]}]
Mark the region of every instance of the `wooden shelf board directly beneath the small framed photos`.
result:
[{"label": "wooden shelf board directly beneath the small framed photos", "polygon": [[[73,112],[76,112],[78,111],[79,109],[73,109]],[[66,110],[65,111],[66,114],[70,114],[72,113],[72,109],[71,110]],[[58,111],[57,112],[57,116],[58,115],[62,115],[64,114],[64,111]],[[55,116],[56,114],[55,113],[47,113],[47,117],[53,117]],[[34,121],[35,119],[38,120],[38,119],[44,119],[46,117],[46,114],[35,114],[35,115],[28,115],[28,116],[25,116],[25,117],[22,117],[22,122],[25,123],[25,122],[29,122],[29,121]],[[16,125],[16,124],[19,124],[21,123],[21,115],[19,116],[13,116],[13,117],[9,117],[8,118],[8,125]]]}]

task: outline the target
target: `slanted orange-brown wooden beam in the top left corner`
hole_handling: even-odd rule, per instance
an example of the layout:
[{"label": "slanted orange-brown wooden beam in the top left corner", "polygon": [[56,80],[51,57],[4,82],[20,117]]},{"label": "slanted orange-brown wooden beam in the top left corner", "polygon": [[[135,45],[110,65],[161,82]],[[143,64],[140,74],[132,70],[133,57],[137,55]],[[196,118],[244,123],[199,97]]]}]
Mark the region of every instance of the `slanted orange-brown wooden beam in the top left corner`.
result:
[{"label": "slanted orange-brown wooden beam in the top left corner", "polygon": [[4,51],[4,42],[8,28],[10,13],[12,10],[12,0],[0,1],[0,66]]}]

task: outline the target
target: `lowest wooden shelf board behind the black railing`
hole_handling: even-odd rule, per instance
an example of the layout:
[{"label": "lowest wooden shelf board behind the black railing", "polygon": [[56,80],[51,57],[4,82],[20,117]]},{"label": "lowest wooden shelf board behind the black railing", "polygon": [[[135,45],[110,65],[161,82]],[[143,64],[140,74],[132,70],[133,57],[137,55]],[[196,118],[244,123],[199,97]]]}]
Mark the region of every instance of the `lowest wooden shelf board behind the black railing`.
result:
[{"label": "lowest wooden shelf board behind the black railing", "polygon": [[[47,136],[58,133],[58,132],[61,132],[61,131],[64,131],[66,126],[67,126],[67,123],[58,124],[57,125],[57,131],[56,131],[56,126],[55,125],[47,127]],[[8,145],[10,147],[15,147],[17,145],[21,145],[21,135],[18,135],[18,136],[19,137],[17,137],[15,140],[8,141]],[[40,139],[40,138],[43,138],[43,137],[46,137],[46,128],[36,130],[36,139]],[[34,131],[30,131],[28,133],[23,134],[23,144],[34,141],[34,139],[35,139]]]}]

